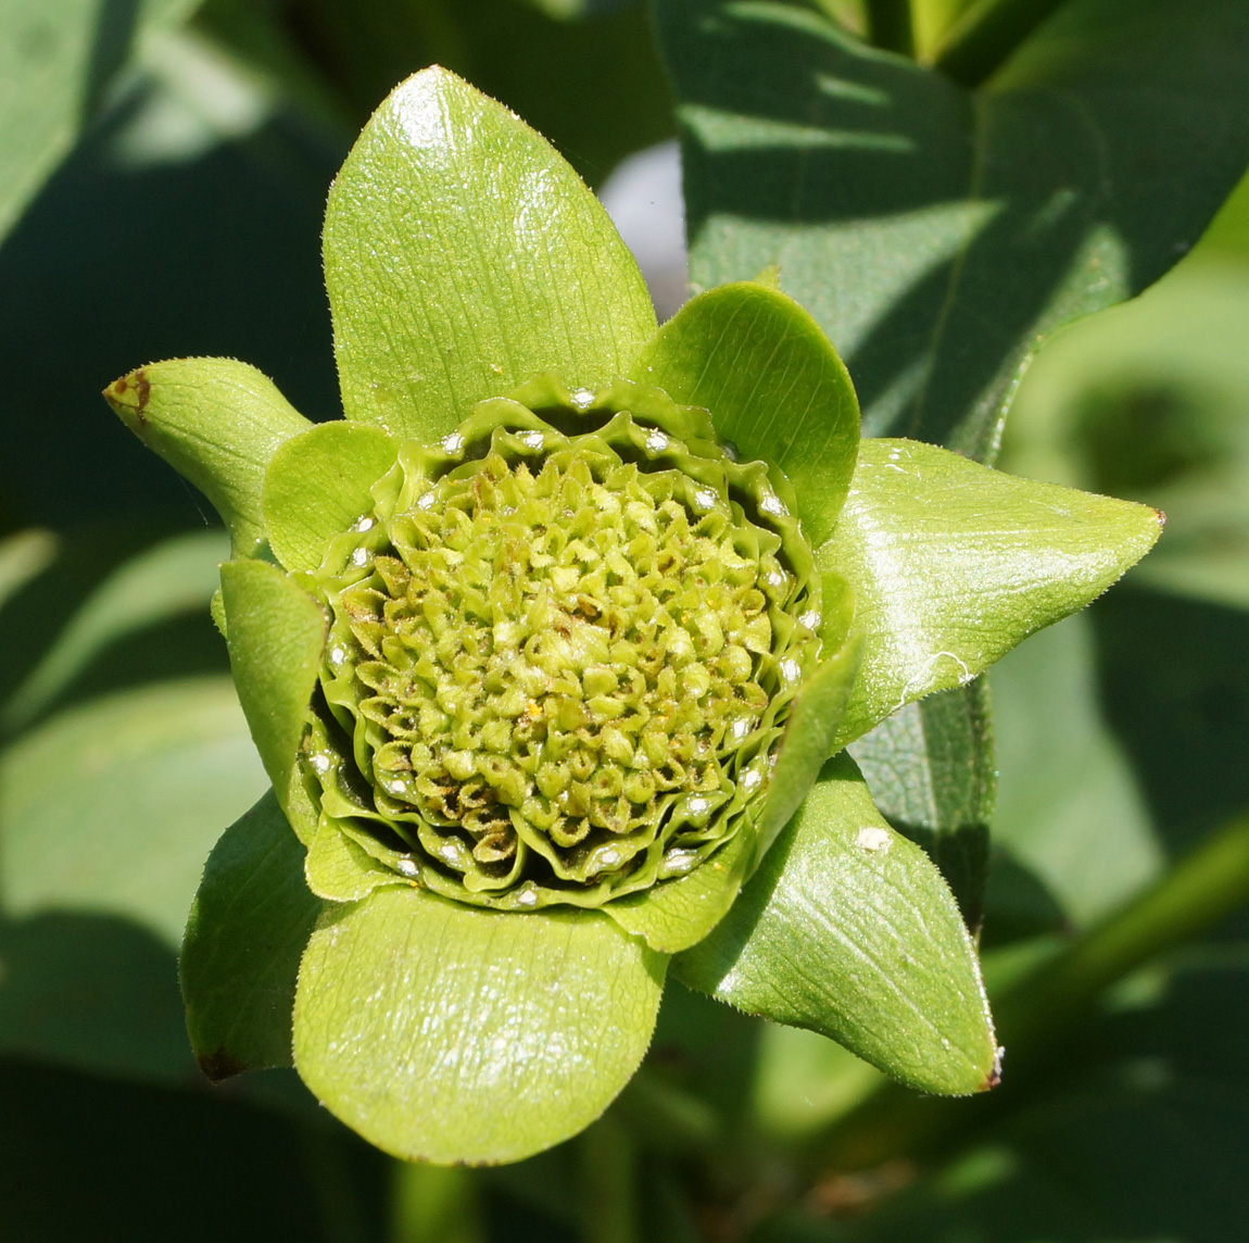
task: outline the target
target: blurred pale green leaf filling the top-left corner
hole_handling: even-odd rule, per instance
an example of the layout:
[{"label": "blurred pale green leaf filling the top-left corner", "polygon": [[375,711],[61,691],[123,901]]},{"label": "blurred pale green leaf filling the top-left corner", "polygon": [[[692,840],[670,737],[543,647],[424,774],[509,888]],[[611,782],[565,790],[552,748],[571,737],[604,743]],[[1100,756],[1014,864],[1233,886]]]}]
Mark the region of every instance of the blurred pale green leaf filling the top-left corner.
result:
[{"label": "blurred pale green leaf filling the top-left corner", "polygon": [[96,120],[137,41],[195,0],[7,0],[0,9],[0,237]]}]

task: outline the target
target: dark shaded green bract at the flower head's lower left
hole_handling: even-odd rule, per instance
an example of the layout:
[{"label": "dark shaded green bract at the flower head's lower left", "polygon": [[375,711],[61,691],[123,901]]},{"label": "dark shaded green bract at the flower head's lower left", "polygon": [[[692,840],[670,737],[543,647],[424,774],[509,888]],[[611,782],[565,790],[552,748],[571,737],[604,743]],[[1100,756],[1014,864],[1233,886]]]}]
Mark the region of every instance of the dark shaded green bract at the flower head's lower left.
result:
[{"label": "dark shaded green bract at the flower head's lower left", "polygon": [[210,1079],[291,1064],[295,981],[321,906],[269,791],[212,848],[182,938],[186,1029]]}]

